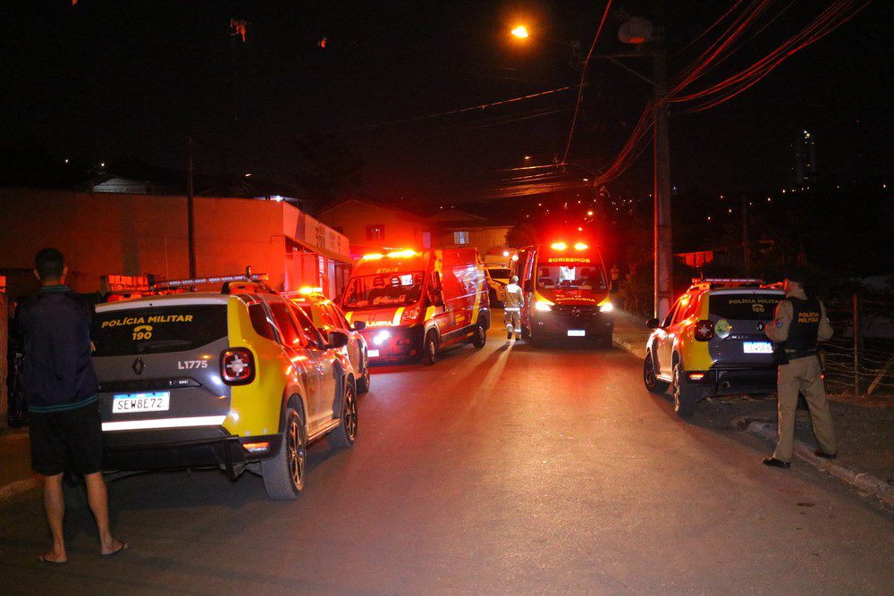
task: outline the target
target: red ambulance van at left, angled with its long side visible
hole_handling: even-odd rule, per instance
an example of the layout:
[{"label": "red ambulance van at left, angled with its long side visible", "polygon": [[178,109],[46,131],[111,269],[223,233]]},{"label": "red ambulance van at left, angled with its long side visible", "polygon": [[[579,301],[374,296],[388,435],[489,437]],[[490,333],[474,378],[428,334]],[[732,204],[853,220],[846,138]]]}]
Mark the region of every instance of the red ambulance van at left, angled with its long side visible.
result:
[{"label": "red ambulance van at left, angled with its long side visible", "polygon": [[448,346],[484,347],[491,324],[485,265],[474,248],[363,256],[340,306],[351,323],[366,323],[373,363],[420,357],[433,365]]}]

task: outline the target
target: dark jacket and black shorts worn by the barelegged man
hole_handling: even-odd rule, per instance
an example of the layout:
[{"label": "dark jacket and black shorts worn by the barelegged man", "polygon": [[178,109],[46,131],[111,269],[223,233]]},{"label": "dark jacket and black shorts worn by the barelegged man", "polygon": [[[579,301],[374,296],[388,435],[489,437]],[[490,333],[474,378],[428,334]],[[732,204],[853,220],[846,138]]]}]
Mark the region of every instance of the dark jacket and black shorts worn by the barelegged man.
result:
[{"label": "dark jacket and black shorts worn by the barelegged man", "polygon": [[94,474],[102,464],[97,375],[90,357],[93,309],[63,285],[19,306],[22,395],[29,411],[31,467],[38,474]]}]

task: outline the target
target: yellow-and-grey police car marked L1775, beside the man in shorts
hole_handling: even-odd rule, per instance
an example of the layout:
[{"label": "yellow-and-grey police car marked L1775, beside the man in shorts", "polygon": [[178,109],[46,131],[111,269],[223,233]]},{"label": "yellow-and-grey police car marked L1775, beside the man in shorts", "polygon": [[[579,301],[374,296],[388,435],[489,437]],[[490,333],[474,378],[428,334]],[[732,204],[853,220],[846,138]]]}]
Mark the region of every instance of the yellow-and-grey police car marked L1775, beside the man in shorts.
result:
[{"label": "yellow-and-grey police car marked L1775, beside the man in shorts", "polygon": [[101,304],[96,327],[106,469],[249,468],[295,499],[308,444],[357,437],[348,337],[262,284]]}]

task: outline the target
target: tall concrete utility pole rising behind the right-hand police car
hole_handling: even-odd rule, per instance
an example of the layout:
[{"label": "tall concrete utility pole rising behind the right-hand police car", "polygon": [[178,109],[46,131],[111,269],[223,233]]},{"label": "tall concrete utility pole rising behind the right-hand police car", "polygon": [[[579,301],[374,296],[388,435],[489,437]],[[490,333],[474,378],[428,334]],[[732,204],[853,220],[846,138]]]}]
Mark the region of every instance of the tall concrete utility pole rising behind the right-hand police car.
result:
[{"label": "tall concrete utility pole rising behind the right-hand police car", "polygon": [[664,39],[654,44],[654,315],[671,310],[673,249],[671,248],[671,151],[668,143],[667,51]]}]

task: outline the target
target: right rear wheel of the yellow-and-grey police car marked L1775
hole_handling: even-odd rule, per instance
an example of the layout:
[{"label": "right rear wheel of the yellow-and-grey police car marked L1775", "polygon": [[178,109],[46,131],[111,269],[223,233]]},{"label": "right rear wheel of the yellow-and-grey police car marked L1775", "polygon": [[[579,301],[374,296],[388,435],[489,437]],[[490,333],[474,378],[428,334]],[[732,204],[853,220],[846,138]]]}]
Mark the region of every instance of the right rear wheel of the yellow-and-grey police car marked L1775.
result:
[{"label": "right rear wheel of the yellow-and-grey police car marked L1775", "polygon": [[299,413],[286,410],[283,444],[276,457],[261,462],[264,488],[271,499],[297,499],[304,490],[308,466],[308,431]]}]

